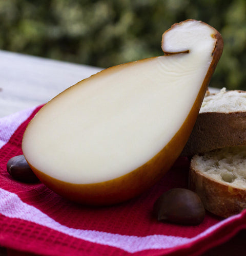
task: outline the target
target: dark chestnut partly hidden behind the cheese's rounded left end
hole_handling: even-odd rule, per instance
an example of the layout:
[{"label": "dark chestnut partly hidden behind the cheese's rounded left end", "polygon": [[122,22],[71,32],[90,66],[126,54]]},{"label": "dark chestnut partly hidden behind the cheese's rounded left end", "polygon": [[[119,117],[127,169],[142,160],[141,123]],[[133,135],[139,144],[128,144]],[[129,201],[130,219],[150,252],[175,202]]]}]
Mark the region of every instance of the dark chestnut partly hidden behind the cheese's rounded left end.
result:
[{"label": "dark chestnut partly hidden behind the cheese's rounded left end", "polygon": [[34,183],[39,180],[29,167],[24,155],[14,156],[9,159],[7,171],[14,179],[22,182]]}]

